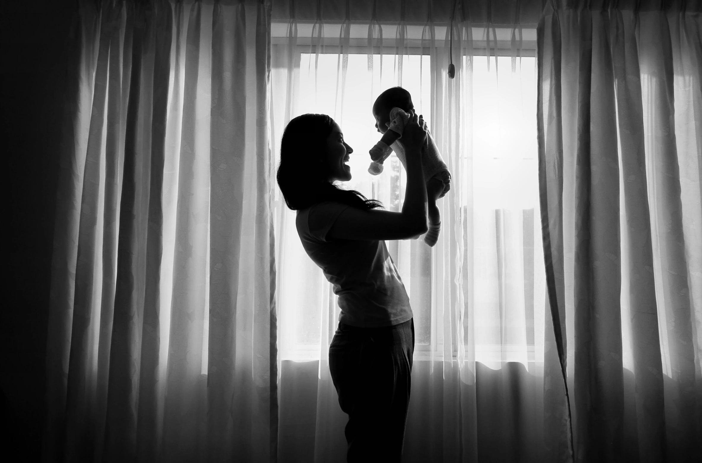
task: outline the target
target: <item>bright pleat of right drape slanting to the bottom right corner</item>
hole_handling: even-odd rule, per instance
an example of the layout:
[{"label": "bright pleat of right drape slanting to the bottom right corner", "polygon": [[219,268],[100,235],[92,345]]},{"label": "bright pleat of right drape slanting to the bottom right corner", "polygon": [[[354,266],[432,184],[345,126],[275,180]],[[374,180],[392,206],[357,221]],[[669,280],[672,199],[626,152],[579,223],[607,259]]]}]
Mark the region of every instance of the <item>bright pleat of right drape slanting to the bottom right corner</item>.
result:
[{"label": "bright pleat of right drape slanting to the bottom right corner", "polygon": [[[654,252],[654,275],[658,324],[664,327],[661,330],[664,349],[661,356],[664,371],[668,373],[666,376],[673,380],[667,384],[665,378],[663,380],[665,419],[672,428],[670,431],[675,429],[666,433],[666,440],[670,457],[680,458],[693,455],[698,449],[696,442],[702,430],[698,428],[699,424],[691,424],[696,421],[695,415],[700,413],[702,403],[697,403],[694,393],[696,386],[701,384],[696,385],[695,379],[687,252],[682,224],[684,210],[675,136],[677,124],[671,123],[675,121],[675,56],[671,42],[677,31],[671,30],[670,19],[659,13],[640,15],[640,27],[651,32],[641,36],[640,48],[640,51],[650,49],[651,52],[640,57],[643,58],[642,73],[649,75],[648,79],[642,79],[642,85],[648,86],[649,90],[648,95],[644,94],[644,104],[650,108],[644,112],[643,128],[644,137],[649,142],[649,203],[654,205],[651,227],[657,238],[654,241],[654,248],[658,251]],[[662,40],[653,46],[647,43],[647,37],[661,37]]]}]

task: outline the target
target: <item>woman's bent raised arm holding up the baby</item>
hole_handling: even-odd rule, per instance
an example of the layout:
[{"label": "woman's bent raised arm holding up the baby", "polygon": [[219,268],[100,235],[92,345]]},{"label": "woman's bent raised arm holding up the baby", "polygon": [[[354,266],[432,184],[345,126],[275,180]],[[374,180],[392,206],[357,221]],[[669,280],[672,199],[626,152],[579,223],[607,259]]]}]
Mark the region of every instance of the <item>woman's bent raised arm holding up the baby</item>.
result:
[{"label": "woman's bent raised arm holding up the baby", "polygon": [[407,167],[402,212],[364,211],[349,207],[338,216],[328,237],[340,240],[406,240],[427,231],[427,187],[421,162],[421,148],[426,137],[423,118],[413,114],[400,138]]}]

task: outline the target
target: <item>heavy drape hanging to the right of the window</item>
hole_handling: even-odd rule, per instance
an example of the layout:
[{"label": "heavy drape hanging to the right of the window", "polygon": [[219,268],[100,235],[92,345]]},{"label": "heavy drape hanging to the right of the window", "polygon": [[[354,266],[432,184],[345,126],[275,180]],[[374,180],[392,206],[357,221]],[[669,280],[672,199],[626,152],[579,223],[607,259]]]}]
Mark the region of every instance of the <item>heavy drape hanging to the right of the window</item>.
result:
[{"label": "heavy drape hanging to the right of the window", "polygon": [[575,459],[699,461],[701,4],[552,1],[538,32],[545,263]]}]

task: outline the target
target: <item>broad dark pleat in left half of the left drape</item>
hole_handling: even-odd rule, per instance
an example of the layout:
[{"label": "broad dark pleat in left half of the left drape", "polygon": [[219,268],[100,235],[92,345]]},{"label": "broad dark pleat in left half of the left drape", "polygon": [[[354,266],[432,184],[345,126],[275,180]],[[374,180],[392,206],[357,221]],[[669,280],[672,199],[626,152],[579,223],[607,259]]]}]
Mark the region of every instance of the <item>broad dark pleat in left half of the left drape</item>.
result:
[{"label": "broad dark pleat in left half of the left drape", "polygon": [[140,347],[147,289],[147,221],[150,190],[151,117],[154,73],[152,8],[135,5],[131,75],[126,107],[124,172],[120,197],[114,315],[102,458],[136,455]]}]

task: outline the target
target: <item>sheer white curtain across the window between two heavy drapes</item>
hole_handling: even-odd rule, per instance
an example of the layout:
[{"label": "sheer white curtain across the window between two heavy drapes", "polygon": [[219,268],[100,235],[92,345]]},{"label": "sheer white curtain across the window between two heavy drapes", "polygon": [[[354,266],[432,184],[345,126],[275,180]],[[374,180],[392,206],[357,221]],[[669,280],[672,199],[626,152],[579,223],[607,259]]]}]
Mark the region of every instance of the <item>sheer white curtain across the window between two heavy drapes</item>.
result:
[{"label": "sheer white curtain across the window between two heavy drapes", "polygon": [[[489,2],[291,1],[274,7],[274,157],[291,118],[329,114],[355,149],[346,186],[399,210],[405,174],[399,160],[390,157],[389,168],[377,177],[366,171],[368,150],[379,136],[371,106],[381,91],[399,85],[428,121],[452,174],[451,191],[439,200],[437,245],[388,242],[416,330],[404,461],[541,461],[545,276],[536,143],[538,6],[529,16],[526,8],[519,11],[519,2],[501,2],[499,19]],[[451,48],[455,79],[446,74]],[[328,364],[336,297],[301,247],[295,214],[279,191],[273,210],[280,458],[343,461],[346,415]]]}]

